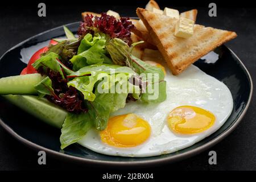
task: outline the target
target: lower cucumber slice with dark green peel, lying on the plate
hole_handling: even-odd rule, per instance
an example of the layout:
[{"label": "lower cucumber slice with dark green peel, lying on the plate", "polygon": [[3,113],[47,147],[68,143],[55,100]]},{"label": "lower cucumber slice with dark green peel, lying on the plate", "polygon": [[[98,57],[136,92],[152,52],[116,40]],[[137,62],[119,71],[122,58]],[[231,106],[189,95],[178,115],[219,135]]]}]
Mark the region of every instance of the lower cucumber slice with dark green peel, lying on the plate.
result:
[{"label": "lower cucumber slice with dark green peel, lying on the plate", "polygon": [[5,95],[3,97],[20,107],[20,109],[59,129],[67,115],[67,111],[45,98],[26,95]]}]

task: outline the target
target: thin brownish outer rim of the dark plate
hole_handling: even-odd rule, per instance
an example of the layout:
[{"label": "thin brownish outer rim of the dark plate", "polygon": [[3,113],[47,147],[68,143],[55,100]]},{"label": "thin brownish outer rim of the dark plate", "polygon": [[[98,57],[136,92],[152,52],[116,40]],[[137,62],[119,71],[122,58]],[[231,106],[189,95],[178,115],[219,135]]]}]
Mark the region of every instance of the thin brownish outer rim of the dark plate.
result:
[{"label": "thin brownish outer rim of the dark plate", "polygon": [[[134,18],[134,17],[131,17]],[[71,26],[72,24],[76,24],[79,22],[73,22],[73,23],[68,23],[65,24],[65,26]],[[47,31],[43,31],[40,32],[39,34],[36,34],[34,36],[31,36],[30,38],[23,40],[22,42],[16,44],[14,47],[11,47],[9,50],[7,50],[1,57],[0,60],[2,60],[2,57],[4,57],[7,53],[9,53],[10,51],[12,51],[13,49],[21,46],[22,44],[30,41],[31,39],[36,38],[36,36],[40,36],[42,34],[46,34],[47,32],[51,32],[53,30],[56,30],[62,26],[58,26],[55,28],[51,28]],[[225,46],[225,45],[224,45]],[[225,46],[226,47],[226,46]],[[86,158],[81,158],[79,156],[73,156],[73,155],[68,155],[68,154],[63,154],[61,152],[57,152],[54,150],[51,150],[49,148],[40,146],[39,144],[33,143],[28,139],[25,139],[23,137],[21,137],[20,135],[18,135],[13,129],[11,129],[11,127],[9,127],[5,122],[2,121],[2,119],[0,118],[0,125],[3,127],[3,129],[5,129],[7,131],[7,133],[9,133],[12,137],[14,137],[15,139],[17,139],[19,142],[23,143],[25,146],[28,146],[30,148],[32,148],[35,151],[45,151],[47,152],[47,154],[51,155],[51,156],[55,156],[56,158],[59,159],[65,159],[68,160],[70,162],[76,162],[76,163],[83,163],[83,164],[100,164],[100,165],[111,165],[111,166],[119,166],[119,167],[128,167],[128,166],[146,166],[148,164],[154,164],[154,165],[159,165],[159,164],[165,164],[165,163],[174,163],[177,162],[179,160],[182,159],[187,159],[191,156],[195,156],[197,154],[200,154],[201,152],[207,150],[208,148],[214,146],[215,144],[217,144],[218,142],[220,142],[222,139],[224,139],[225,137],[227,137],[230,133],[232,133],[232,131],[239,125],[239,123],[241,122],[242,118],[244,117],[250,102],[251,102],[251,98],[253,95],[253,80],[250,76],[249,71],[247,70],[247,68],[245,67],[245,65],[242,63],[242,61],[240,60],[240,58],[236,55],[236,53],[234,53],[232,51],[232,49],[230,49],[229,47],[226,47],[229,49],[229,51],[236,57],[236,59],[240,62],[240,64],[242,65],[242,68],[244,69],[245,73],[247,74],[247,77],[249,78],[249,82],[250,82],[250,94],[249,94],[249,99],[248,102],[245,106],[245,109],[242,111],[241,115],[237,118],[237,121],[233,123],[232,126],[229,127],[229,129],[225,130],[223,133],[221,133],[220,135],[218,135],[216,138],[210,140],[209,142],[193,148],[192,150],[186,151],[182,154],[176,154],[174,156],[169,156],[166,158],[160,158],[160,159],[149,159],[146,161],[130,161],[130,162],[113,162],[113,161],[104,161],[104,160],[94,160],[94,159],[86,159]]]}]

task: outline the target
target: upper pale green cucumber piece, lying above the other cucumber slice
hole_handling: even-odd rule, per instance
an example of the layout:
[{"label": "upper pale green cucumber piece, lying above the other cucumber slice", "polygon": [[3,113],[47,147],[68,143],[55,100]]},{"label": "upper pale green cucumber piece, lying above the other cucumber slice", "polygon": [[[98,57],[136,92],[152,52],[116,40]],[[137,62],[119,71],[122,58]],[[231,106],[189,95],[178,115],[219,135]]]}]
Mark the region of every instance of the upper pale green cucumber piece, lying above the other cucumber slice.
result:
[{"label": "upper pale green cucumber piece, lying above the other cucumber slice", "polygon": [[34,86],[43,78],[39,73],[0,78],[0,94],[36,94]]}]

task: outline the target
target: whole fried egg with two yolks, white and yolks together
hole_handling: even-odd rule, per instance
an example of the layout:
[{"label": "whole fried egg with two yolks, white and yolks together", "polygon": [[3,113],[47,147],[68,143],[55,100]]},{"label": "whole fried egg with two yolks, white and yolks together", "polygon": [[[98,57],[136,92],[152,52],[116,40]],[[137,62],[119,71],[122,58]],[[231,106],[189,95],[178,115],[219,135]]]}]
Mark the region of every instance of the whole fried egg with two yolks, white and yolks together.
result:
[{"label": "whole fried egg with two yolks, white and yolks together", "polygon": [[179,76],[167,71],[165,80],[166,101],[129,102],[112,113],[106,130],[90,130],[78,143],[106,155],[169,154],[208,137],[232,112],[228,87],[194,65]]}]

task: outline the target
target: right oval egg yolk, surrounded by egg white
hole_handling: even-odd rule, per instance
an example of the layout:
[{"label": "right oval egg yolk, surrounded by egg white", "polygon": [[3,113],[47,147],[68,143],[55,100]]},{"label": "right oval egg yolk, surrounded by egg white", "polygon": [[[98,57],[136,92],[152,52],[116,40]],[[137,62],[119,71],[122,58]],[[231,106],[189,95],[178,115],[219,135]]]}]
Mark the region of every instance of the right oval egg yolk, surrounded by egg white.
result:
[{"label": "right oval egg yolk, surrounded by egg white", "polygon": [[179,106],[167,117],[170,130],[179,134],[195,134],[209,129],[215,117],[207,110],[195,106]]}]

